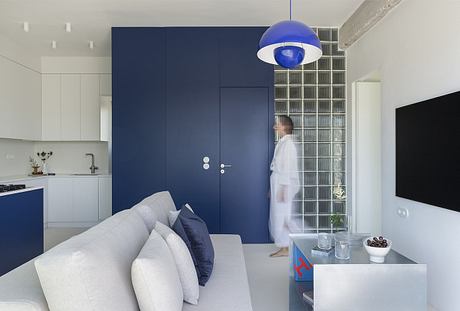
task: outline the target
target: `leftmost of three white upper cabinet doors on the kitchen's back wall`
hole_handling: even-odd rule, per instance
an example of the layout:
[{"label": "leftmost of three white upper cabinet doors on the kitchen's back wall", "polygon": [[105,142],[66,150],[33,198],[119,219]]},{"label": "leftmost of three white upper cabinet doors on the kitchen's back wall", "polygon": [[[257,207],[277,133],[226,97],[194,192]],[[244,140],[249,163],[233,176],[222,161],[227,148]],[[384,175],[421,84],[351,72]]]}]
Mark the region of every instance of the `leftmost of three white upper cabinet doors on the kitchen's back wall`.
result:
[{"label": "leftmost of three white upper cabinet doors on the kitchen's back wall", "polygon": [[42,140],[61,139],[61,75],[42,75]]}]

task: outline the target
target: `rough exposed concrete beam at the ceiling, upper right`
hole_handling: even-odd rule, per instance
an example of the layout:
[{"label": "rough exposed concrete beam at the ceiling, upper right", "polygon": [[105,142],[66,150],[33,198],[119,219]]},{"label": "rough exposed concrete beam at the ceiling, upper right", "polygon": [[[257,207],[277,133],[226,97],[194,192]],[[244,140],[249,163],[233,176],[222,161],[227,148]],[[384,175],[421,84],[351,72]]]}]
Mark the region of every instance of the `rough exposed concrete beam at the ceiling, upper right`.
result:
[{"label": "rough exposed concrete beam at the ceiling, upper right", "polygon": [[340,27],[339,46],[347,49],[358,41],[402,0],[365,0]]}]

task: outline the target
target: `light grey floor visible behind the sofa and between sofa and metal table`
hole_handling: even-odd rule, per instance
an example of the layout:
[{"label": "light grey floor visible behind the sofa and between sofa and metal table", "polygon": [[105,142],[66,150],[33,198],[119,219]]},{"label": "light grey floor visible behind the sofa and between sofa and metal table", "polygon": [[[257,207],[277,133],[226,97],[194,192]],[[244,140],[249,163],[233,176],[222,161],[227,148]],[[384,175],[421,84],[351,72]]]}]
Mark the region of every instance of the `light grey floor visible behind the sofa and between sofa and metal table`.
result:
[{"label": "light grey floor visible behind the sofa and between sofa and metal table", "polygon": [[[77,235],[86,228],[47,228],[45,250]],[[243,245],[254,311],[288,310],[288,259],[270,258],[273,244]]]}]

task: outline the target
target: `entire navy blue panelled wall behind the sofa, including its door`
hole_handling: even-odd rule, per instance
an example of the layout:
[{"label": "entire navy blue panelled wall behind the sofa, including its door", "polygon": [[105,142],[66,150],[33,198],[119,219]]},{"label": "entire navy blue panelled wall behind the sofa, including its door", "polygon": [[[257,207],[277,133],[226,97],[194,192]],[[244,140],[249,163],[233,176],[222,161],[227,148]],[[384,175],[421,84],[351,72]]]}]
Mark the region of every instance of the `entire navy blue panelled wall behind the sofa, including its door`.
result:
[{"label": "entire navy blue panelled wall behind the sofa, including its door", "polygon": [[[243,241],[268,240],[266,193],[267,159],[273,152],[273,67],[256,56],[258,41],[265,29],[112,29],[114,213],[130,208],[154,192],[169,190],[178,207],[184,203],[192,205],[210,232],[241,234]],[[221,112],[222,89],[228,87],[238,88],[242,96],[260,92],[267,95],[254,95],[257,105],[248,106],[247,110],[245,104],[228,104],[225,108],[237,109],[232,111],[232,120],[236,122],[228,123],[230,128],[226,125],[226,140],[238,139],[228,140],[228,133],[259,135],[252,138],[260,139],[262,144],[253,147],[262,148],[264,155],[256,163],[232,156],[235,172],[261,174],[258,180],[263,182],[254,187],[254,191],[263,191],[263,195],[253,196],[262,198],[257,202],[232,199],[223,213],[222,178],[230,175],[222,174],[220,168],[222,151],[229,150],[229,146],[222,148]],[[258,90],[246,93],[246,88]],[[241,97],[236,94],[232,98]],[[248,101],[253,102],[249,98]],[[244,131],[246,115],[255,112],[262,113],[262,117],[248,120],[262,122],[258,124],[262,130],[257,134],[251,132],[250,127]],[[238,130],[233,131],[231,126]],[[205,157],[209,158],[207,169],[203,167]],[[231,174],[231,168],[226,174]],[[233,180],[245,183],[238,178]],[[238,186],[247,189],[251,185]],[[227,181],[226,187],[232,185]],[[248,209],[250,213],[246,213]],[[230,214],[231,218],[222,219],[223,215]],[[249,215],[260,218],[251,222]],[[236,219],[242,222],[232,226]],[[254,223],[263,228],[240,230]]]}]

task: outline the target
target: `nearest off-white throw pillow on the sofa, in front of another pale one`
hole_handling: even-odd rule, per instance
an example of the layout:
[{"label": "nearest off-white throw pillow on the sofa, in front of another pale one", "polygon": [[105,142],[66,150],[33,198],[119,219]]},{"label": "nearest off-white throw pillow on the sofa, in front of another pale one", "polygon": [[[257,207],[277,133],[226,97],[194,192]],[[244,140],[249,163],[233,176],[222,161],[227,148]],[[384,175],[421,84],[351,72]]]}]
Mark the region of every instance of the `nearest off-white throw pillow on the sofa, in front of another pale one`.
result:
[{"label": "nearest off-white throw pillow on the sofa, in front of another pale one", "polygon": [[182,286],[174,258],[155,230],[134,260],[131,278],[142,311],[182,310]]}]

